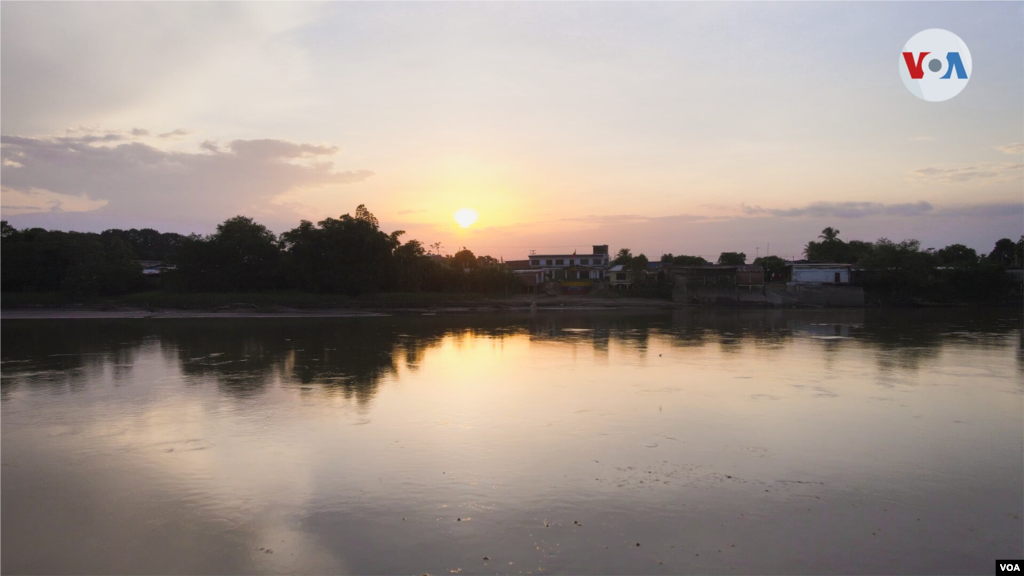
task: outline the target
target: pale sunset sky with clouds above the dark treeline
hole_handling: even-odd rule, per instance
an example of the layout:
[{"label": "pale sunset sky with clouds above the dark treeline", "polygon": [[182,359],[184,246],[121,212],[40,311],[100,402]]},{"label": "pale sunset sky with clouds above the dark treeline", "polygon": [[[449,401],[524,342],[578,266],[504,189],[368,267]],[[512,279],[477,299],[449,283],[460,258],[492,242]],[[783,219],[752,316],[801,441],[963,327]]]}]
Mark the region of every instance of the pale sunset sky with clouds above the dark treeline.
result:
[{"label": "pale sunset sky with clouds above the dark treeline", "polygon": [[[943,28],[969,85],[913,96]],[[1024,3],[0,0],[0,219],[799,257],[1024,234]],[[453,214],[471,208],[461,228]]]}]

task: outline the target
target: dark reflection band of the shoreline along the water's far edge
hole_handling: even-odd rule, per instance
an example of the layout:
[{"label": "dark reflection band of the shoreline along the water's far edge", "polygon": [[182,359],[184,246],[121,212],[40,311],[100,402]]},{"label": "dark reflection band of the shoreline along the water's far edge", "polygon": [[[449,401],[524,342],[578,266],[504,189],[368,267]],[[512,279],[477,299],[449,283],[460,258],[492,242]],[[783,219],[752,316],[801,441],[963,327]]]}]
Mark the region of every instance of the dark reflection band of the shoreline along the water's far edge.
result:
[{"label": "dark reflection band of the shoreline along the water's far edge", "polygon": [[[157,346],[194,382],[213,380],[225,394],[259,394],[268,384],[336,390],[364,404],[400,367],[416,370],[445,337],[525,336],[591,346],[781,349],[812,340],[827,360],[849,345],[876,351],[883,369],[918,370],[946,342],[1017,346],[1024,371],[1024,331],[1005,311],[751,311],[686,308],[671,313],[563,311],[322,319],[7,321],[0,331],[0,400],[16,383],[72,392],[110,370],[117,382]],[[1018,335],[1015,340],[1011,336]],[[146,353],[146,349],[154,352]]]}]

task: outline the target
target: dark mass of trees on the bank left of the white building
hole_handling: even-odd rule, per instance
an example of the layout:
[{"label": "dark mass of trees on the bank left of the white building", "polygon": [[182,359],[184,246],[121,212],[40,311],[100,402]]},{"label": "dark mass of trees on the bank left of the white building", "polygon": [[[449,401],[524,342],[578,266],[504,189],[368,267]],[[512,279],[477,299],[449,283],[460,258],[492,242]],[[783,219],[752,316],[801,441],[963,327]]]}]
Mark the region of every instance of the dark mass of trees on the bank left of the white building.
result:
[{"label": "dark mass of trees on the bank left of the white building", "polygon": [[[208,236],[154,230],[102,234],[18,231],[0,221],[0,291],[61,291],[73,296],[113,295],[150,288],[138,260],[167,264],[161,288],[183,292],[300,290],[358,295],[367,292],[502,292],[519,281],[490,256],[463,248],[430,254],[418,240],[402,243],[359,205],[317,223],[303,220],[278,236],[245,216],[229,218]],[[439,251],[439,244],[434,245]]]}]

